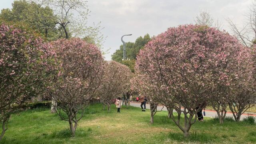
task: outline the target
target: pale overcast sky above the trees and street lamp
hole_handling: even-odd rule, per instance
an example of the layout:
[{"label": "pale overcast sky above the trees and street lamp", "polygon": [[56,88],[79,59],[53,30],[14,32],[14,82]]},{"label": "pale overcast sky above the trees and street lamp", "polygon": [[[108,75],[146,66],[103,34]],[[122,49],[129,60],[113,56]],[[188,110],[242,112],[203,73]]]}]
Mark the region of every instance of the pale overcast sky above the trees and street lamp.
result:
[{"label": "pale overcast sky above the trees and street lamp", "polygon": [[[0,0],[0,9],[11,8],[13,1]],[[156,36],[169,27],[193,24],[200,10],[209,10],[230,32],[226,19],[242,26],[251,4],[252,0],[88,0],[92,11],[88,21],[102,22],[102,33],[107,36],[104,50],[110,48],[105,58],[110,60],[124,34],[132,34],[124,38],[125,42],[134,42],[146,33]]]}]

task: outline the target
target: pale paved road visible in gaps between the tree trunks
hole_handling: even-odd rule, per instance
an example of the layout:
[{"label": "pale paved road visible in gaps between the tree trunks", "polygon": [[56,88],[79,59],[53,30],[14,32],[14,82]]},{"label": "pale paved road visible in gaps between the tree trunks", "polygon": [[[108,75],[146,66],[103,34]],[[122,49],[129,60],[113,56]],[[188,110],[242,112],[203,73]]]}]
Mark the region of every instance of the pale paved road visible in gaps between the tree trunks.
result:
[{"label": "pale paved road visible in gaps between the tree trunks", "polygon": [[[130,105],[140,108],[140,104],[141,104],[140,102],[131,102]],[[149,109],[149,108],[150,108],[149,104],[146,104],[146,109]],[[158,106],[157,107],[157,110],[161,110],[161,109],[162,109],[162,106]],[[167,108],[164,106],[164,108],[162,110],[163,111],[167,111]],[[174,112],[175,112],[175,110],[174,110]],[[242,114],[240,120],[243,120],[243,118],[246,118],[248,116],[248,114],[252,114],[252,116],[256,116],[256,113],[248,112],[248,113]],[[205,117],[214,118],[215,116],[218,116],[215,111],[213,111],[213,110],[205,110]],[[232,116],[233,117],[233,114],[232,114],[232,112],[227,112],[226,116]],[[234,117],[233,117],[233,119],[234,119]]]}]

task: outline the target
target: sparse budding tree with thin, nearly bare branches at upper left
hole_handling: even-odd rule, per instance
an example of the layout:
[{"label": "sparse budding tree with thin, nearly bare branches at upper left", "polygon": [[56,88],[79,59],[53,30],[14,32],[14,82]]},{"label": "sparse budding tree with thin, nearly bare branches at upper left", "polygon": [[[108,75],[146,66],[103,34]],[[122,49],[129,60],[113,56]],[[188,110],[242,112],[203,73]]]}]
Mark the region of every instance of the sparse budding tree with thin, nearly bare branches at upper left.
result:
[{"label": "sparse budding tree with thin, nearly bare branches at upper left", "polygon": [[[102,46],[104,36],[100,32],[101,22],[88,26],[88,9],[86,0],[29,0],[38,6],[49,6],[54,10],[54,21],[64,31],[65,38],[90,37],[98,47]],[[61,31],[60,31],[61,33]]]}]

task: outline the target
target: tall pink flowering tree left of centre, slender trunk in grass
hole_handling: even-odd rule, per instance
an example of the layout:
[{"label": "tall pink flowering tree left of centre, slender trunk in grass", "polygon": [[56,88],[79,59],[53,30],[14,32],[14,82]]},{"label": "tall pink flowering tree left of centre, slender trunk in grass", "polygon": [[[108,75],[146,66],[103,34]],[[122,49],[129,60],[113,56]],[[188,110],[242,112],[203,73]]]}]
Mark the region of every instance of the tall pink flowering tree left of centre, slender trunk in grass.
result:
[{"label": "tall pink flowering tree left of centre, slender trunk in grass", "polygon": [[[56,113],[69,122],[70,132],[75,136],[78,121],[100,86],[104,60],[98,47],[79,38],[60,39],[53,45],[60,72],[58,81],[49,87],[49,93],[57,103],[54,105]],[[62,117],[62,112],[68,118]]]}]

